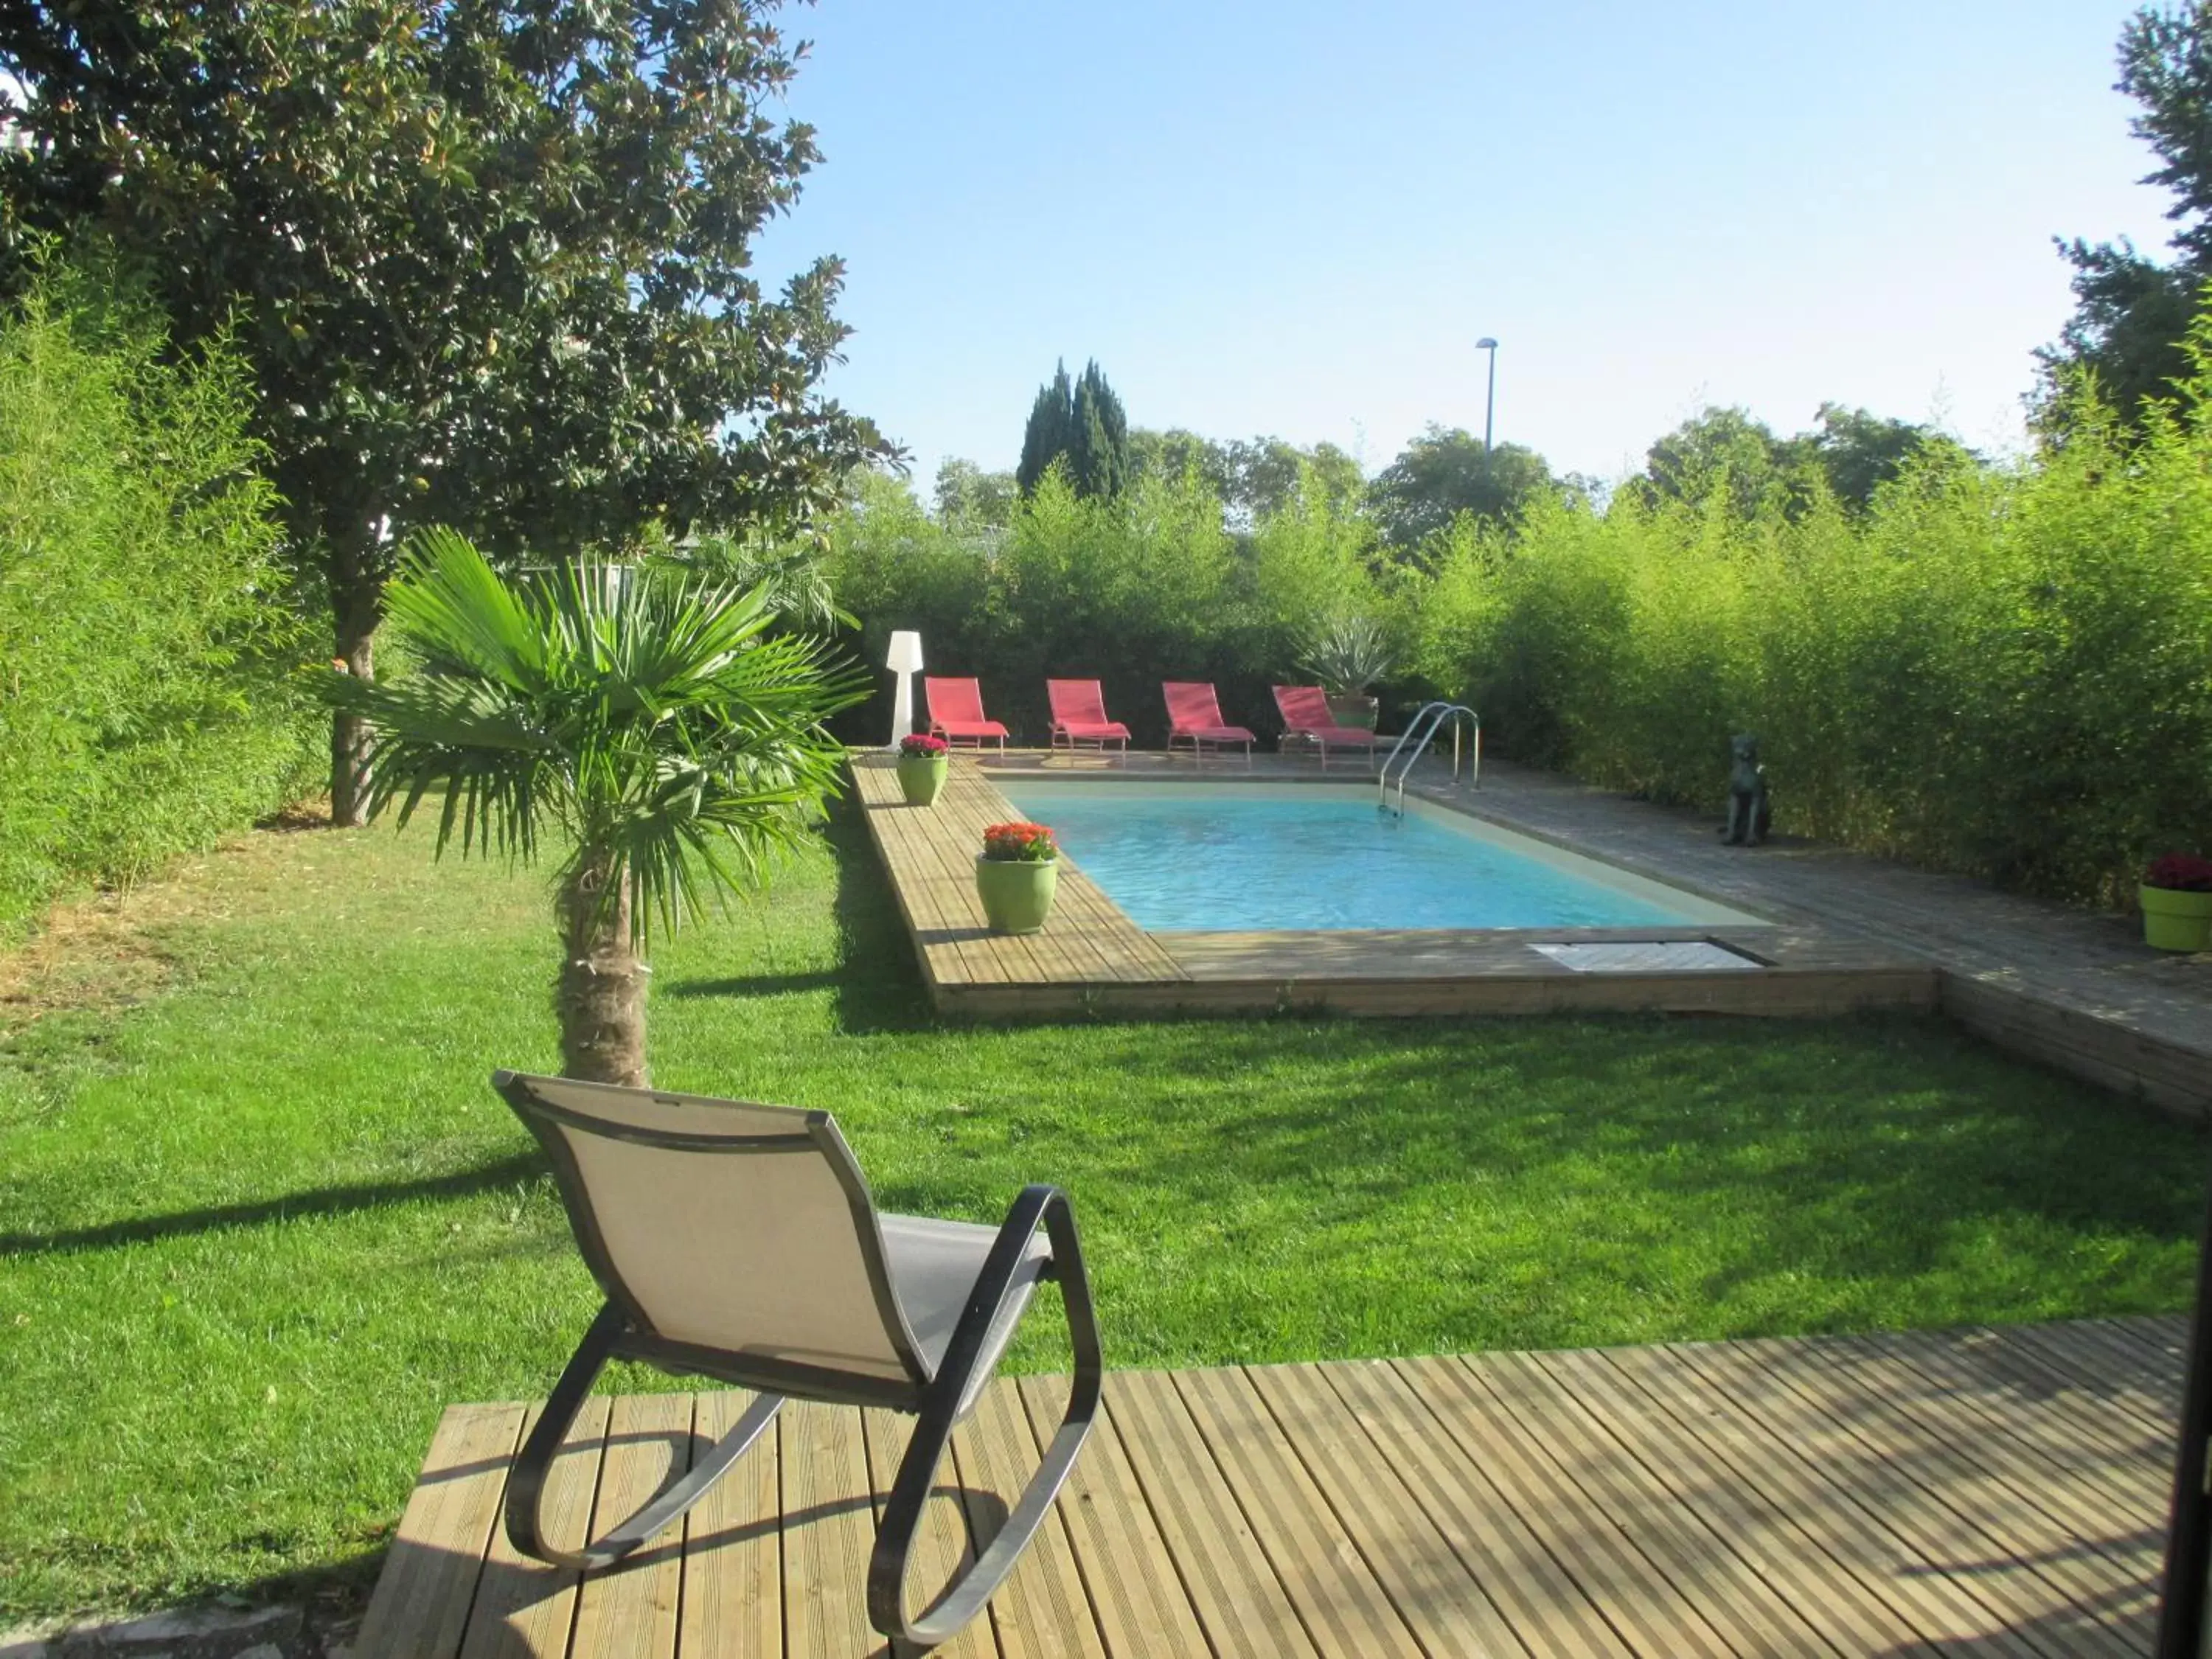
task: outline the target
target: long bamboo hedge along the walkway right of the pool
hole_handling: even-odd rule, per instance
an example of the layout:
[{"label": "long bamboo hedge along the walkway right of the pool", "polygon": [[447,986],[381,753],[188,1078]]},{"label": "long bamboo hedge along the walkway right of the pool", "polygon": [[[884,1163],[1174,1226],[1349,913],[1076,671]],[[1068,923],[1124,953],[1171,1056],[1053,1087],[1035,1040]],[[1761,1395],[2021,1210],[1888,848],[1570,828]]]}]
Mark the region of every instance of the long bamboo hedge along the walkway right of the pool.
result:
[{"label": "long bamboo hedge along the walkway right of the pool", "polygon": [[1783,830],[2124,902],[2212,825],[2212,372],[2141,436],[2075,400],[2062,449],[1931,447],[1865,515],[1624,491],[1462,526],[1418,661],[1595,783],[1717,810],[1759,732]]}]

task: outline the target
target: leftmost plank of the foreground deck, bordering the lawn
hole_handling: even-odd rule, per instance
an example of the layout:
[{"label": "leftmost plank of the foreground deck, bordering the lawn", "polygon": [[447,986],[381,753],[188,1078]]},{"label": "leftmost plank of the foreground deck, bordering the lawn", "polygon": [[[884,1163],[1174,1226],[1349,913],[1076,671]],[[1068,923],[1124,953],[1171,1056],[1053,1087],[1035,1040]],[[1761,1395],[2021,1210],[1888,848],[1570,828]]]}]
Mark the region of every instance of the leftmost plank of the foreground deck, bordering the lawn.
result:
[{"label": "leftmost plank of the foreground deck, bordering the lawn", "polygon": [[431,1433],[356,1646],[383,1659],[453,1659],[500,1517],[520,1405],[449,1405]]}]

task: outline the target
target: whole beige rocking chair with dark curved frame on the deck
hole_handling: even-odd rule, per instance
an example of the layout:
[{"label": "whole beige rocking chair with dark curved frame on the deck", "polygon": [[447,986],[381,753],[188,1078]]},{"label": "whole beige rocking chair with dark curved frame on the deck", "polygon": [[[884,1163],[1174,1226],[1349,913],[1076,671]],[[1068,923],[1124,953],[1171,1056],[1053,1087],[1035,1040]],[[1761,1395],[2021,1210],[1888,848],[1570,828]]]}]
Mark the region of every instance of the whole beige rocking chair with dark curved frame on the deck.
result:
[{"label": "whole beige rocking chair with dark curved frame on the deck", "polygon": [[[513,1071],[491,1086],[553,1159],[568,1225],[606,1292],[507,1482],[513,1546],[573,1571],[608,1566],[697,1504],[785,1398],[889,1407],[918,1422],[883,1504],[867,1617],[909,1652],[953,1637],[1013,1571],[1097,1413],[1104,1363],[1066,1192],[1022,1188],[998,1230],[880,1214],[830,1113]],[[909,1619],[907,1557],[938,1462],[1046,1281],[1060,1285],[1075,1347],[1066,1416],[998,1535]],[[626,1522],[582,1551],[557,1548],[540,1515],[546,1473],[615,1356],[759,1398]]]}]

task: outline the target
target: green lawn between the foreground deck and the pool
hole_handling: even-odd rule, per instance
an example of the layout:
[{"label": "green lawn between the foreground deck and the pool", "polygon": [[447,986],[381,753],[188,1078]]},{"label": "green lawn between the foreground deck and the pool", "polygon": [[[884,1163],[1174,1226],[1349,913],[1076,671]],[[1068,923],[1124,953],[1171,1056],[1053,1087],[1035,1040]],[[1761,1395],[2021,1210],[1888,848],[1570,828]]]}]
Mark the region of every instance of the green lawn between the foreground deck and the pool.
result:
[{"label": "green lawn between the foreground deck and the pool", "polygon": [[[2201,1139],[1940,1024],[942,1026],[854,834],[657,953],[655,1077],[836,1110],[885,1208],[1066,1183],[1117,1365],[2188,1301]],[[261,834],[0,971],[0,1610],[361,1582],[440,1405],[549,1387],[593,1287],[484,1077],[551,947],[531,874]]]}]

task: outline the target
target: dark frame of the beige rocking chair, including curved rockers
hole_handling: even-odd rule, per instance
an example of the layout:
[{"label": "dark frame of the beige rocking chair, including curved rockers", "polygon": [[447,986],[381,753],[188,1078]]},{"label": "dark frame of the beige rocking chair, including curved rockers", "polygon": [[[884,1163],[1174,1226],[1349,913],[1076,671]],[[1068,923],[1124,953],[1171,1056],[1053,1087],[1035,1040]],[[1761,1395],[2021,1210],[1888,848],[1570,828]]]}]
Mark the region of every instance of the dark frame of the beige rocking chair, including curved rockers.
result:
[{"label": "dark frame of the beige rocking chair, including curved rockers", "polygon": [[[507,1482],[507,1537],[513,1546],[522,1555],[575,1573],[613,1566],[697,1504],[768,1431],[785,1398],[885,1407],[907,1411],[918,1420],[907,1442],[907,1453],[898,1464],[898,1475],[891,1480],[891,1491],[885,1498],[883,1522],[876,1528],[876,1548],[867,1562],[867,1617],[880,1635],[891,1639],[894,1648],[905,1652],[927,1652],[958,1635],[962,1626],[982,1613],[984,1604],[1013,1571],[1029,1540],[1037,1533],[1046,1513],[1051,1513],[1053,1500],[1075,1469],[1075,1458],[1097,1418],[1106,1365],[1099,1345],[1097,1307],[1091,1298],[1091,1276],[1084,1270],[1082,1241],[1075,1230],[1075,1210],[1068,1206],[1068,1194],[1046,1183],[1022,1188],[998,1228],[991,1252],[984,1256],[982,1272],[975,1276],[975,1287],[960,1312],[945,1356],[931,1371],[918,1352],[914,1332],[907,1327],[905,1312],[898,1305],[898,1294],[891,1287],[883,1230],[876,1221],[876,1203],[867,1190],[867,1177],[863,1177],[860,1166],[854,1161],[852,1148],[836,1133],[830,1113],[807,1113],[805,1128],[792,1135],[681,1135],[626,1124],[617,1126],[571,1113],[535,1095],[529,1079],[520,1073],[500,1071],[491,1082],[553,1159],[577,1248],[593,1279],[599,1281],[599,1290],[606,1292],[606,1305],[584,1332],[584,1340],[577,1343],[575,1354],[560,1374],[560,1383],[553,1385],[553,1394],[546,1398],[544,1411],[524,1440],[522,1453],[515,1458]],[[891,1347],[909,1371],[907,1380],[675,1343],[655,1334],[637,1298],[615,1270],[613,1254],[591,1212],[582,1170],[555,1124],[566,1124],[591,1135],[608,1135],[668,1150],[692,1150],[710,1157],[726,1152],[818,1152],[825,1157],[852,1206],[863,1259],[867,1261],[869,1287],[876,1294],[876,1307],[883,1314]],[[1037,1272],[1037,1283],[1060,1285],[1075,1358],[1066,1411],[1037,1462],[1037,1471],[1029,1478],[1029,1484],[1013,1509],[1009,1509],[1004,1524],[991,1542],[975,1553],[964,1573],[938,1590],[920,1615],[907,1617],[902,1590],[922,1509],[936,1482],[938,1464],[951,1447],[953,1429],[960,1427],[967,1411],[973,1411],[973,1400],[962,1411],[962,1398],[975,1380],[991,1325],[1015,1287],[1015,1276],[1029,1254],[1029,1241],[1040,1225],[1051,1241],[1051,1259]],[[611,1358],[635,1358],[677,1374],[734,1383],[754,1389],[759,1398],[686,1473],[672,1475],[628,1520],[617,1522],[582,1551],[566,1551],[546,1542],[546,1480],[553,1458],[568,1436],[568,1425],[575,1422],[577,1411],[582,1411],[591,1394],[591,1385]]]}]

